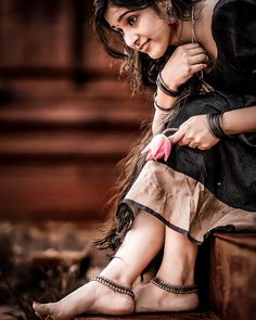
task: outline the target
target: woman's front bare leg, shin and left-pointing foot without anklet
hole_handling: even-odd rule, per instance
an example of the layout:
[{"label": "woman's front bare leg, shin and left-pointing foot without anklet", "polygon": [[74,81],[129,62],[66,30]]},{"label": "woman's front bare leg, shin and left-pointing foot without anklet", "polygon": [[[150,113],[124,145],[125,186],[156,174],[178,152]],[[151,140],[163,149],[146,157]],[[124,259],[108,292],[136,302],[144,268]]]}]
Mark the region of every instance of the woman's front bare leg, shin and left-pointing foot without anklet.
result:
[{"label": "woman's front bare leg, shin and left-pointing foot without anklet", "polygon": [[[131,286],[141,271],[164,245],[164,225],[151,215],[139,213],[131,230],[116,256],[101,276],[125,286]],[[52,319],[69,320],[84,312],[104,315],[126,315],[135,311],[135,302],[126,294],[112,291],[92,281],[77,289],[63,299],[53,304],[34,304],[39,317],[47,315]]]}]

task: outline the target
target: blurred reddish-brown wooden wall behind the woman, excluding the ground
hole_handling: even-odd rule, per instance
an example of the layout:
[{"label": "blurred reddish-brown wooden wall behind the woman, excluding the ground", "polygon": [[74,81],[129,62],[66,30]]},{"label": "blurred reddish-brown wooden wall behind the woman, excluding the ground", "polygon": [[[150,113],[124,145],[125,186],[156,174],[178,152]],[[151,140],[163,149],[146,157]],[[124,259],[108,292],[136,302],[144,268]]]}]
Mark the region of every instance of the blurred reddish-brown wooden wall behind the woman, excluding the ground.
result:
[{"label": "blurred reddish-brown wooden wall behind the woman, excluding the ground", "polygon": [[[91,0],[0,1],[0,217],[102,220],[151,112],[92,31]],[[106,195],[107,196],[107,195]]]}]

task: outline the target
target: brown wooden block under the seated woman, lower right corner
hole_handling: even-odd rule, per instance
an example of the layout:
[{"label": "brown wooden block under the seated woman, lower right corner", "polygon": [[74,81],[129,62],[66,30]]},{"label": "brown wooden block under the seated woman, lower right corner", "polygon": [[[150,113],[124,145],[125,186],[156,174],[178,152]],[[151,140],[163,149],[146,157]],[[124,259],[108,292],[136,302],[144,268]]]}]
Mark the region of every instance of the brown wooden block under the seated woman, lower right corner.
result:
[{"label": "brown wooden block under the seated woman, lower right corner", "polygon": [[212,242],[212,308],[220,319],[251,320],[256,312],[256,233],[216,233]]}]

